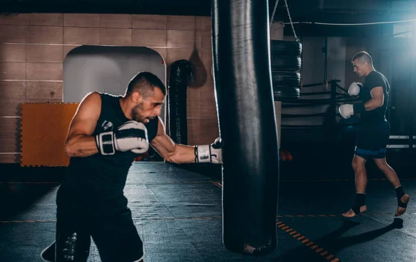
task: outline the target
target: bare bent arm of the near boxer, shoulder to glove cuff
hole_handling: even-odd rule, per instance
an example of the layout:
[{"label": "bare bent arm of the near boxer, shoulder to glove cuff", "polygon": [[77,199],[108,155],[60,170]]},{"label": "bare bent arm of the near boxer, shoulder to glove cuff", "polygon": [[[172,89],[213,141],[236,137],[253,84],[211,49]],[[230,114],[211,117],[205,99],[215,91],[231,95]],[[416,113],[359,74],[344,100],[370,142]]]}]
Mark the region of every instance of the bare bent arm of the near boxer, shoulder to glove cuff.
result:
[{"label": "bare bent arm of the near boxer, shoulder to glove cuff", "polygon": [[92,133],[96,128],[100,113],[100,94],[94,92],[85,96],[69,125],[64,145],[68,157],[88,157],[98,152]]}]

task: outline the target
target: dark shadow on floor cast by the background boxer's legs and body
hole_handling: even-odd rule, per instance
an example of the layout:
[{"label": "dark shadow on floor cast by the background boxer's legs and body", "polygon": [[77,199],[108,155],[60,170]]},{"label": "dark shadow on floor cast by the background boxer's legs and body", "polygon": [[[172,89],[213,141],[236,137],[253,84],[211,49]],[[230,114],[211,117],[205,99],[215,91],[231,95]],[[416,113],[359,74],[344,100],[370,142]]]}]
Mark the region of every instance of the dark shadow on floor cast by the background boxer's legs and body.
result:
[{"label": "dark shadow on floor cast by the background boxer's legs and body", "polygon": [[[403,220],[401,218],[395,218],[395,220],[386,227],[381,227],[380,229],[365,232],[363,234],[357,234],[355,236],[346,236],[340,238],[343,234],[345,234],[345,232],[347,232],[349,229],[352,229],[352,227],[361,225],[360,222],[354,222],[347,218],[343,218],[342,220],[343,225],[340,228],[325,236],[322,236],[322,238],[311,240],[315,245],[323,247],[324,250],[328,252],[328,255],[333,254],[336,256],[336,253],[339,250],[343,250],[345,247],[350,247],[352,245],[358,245],[361,243],[372,241],[374,238],[378,238],[379,236],[382,236],[383,234],[390,232],[392,229],[400,229],[403,227]],[[306,247],[306,245],[302,245],[300,247],[296,247],[293,250],[285,252],[284,254],[279,256],[279,258],[276,261],[327,261],[327,259],[325,259],[325,256],[320,256],[320,254],[316,253],[315,250],[316,249],[311,250],[311,247]]]}]

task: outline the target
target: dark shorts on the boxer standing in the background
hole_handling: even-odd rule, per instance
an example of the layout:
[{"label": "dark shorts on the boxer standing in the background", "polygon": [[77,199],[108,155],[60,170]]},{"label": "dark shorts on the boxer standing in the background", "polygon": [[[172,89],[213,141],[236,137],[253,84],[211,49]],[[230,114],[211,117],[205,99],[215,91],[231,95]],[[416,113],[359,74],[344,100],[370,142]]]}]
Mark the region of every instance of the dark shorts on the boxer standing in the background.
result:
[{"label": "dark shorts on the boxer standing in the background", "polygon": [[355,155],[363,159],[384,158],[389,137],[388,121],[362,125],[357,132]]}]

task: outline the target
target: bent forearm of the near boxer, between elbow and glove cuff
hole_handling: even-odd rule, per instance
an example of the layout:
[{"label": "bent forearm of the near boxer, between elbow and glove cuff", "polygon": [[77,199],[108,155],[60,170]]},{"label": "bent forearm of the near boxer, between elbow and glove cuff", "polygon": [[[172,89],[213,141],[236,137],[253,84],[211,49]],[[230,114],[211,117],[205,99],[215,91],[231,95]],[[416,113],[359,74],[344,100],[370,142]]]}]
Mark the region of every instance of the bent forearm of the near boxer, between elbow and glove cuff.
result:
[{"label": "bent forearm of the near boxer, between elbow and glove cuff", "polygon": [[98,152],[95,137],[87,134],[76,134],[65,143],[68,157],[88,157]]}]

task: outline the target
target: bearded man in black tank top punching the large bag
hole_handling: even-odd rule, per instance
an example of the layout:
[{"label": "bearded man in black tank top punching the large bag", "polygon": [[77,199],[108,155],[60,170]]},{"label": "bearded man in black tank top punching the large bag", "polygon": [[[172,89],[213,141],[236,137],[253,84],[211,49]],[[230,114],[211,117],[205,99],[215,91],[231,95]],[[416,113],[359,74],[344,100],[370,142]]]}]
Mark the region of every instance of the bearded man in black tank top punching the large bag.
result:
[{"label": "bearded man in black tank top punching the large bag", "polygon": [[166,87],[138,73],[124,96],[93,92],[73,116],[65,152],[68,171],[58,189],[56,237],[44,261],[87,261],[90,237],[101,261],[143,261],[143,243],[123,195],[132,161],[149,144],[173,163],[222,163],[220,139],[211,145],[175,144],[159,118]]}]

